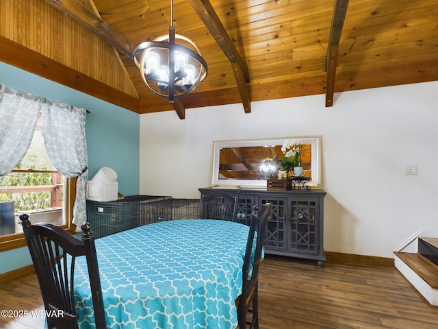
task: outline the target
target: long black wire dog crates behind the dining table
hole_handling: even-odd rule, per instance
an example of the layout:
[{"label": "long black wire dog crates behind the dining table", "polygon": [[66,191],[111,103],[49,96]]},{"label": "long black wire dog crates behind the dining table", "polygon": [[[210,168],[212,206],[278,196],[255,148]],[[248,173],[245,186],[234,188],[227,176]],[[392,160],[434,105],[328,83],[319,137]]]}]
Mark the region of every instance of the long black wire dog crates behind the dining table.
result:
[{"label": "long black wire dog crates behind the dining table", "polygon": [[87,201],[87,220],[94,238],[158,221],[199,218],[199,199],[132,195],[115,202]]}]

